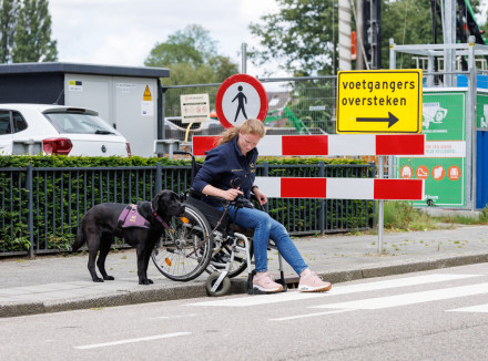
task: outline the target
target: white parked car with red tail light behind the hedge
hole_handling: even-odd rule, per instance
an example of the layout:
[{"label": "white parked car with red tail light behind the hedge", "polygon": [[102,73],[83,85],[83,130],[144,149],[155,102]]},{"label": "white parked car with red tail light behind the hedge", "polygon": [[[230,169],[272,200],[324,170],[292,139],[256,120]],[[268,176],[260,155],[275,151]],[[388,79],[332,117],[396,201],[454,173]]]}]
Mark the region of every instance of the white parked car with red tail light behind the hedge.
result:
[{"label": "white parked car with red tail light behind the hedge", "polygon": [[125,137],[99,113],[49,104],[0,104],[0,155],[130,156]]}]

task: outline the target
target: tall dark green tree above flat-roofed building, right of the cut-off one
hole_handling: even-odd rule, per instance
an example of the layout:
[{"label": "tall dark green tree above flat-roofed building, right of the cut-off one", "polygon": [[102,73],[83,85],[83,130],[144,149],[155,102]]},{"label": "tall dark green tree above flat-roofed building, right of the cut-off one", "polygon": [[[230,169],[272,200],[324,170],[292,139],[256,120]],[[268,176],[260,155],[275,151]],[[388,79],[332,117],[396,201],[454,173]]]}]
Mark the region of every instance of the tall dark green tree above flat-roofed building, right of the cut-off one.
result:
[{"label": "tall dark green tree above flat-roofed building, right of the cut-off one", "polygon": [[51,40],[48,7],[48,0],[22,1],[12,49],[14,63],[58,60],[57,41]]}]

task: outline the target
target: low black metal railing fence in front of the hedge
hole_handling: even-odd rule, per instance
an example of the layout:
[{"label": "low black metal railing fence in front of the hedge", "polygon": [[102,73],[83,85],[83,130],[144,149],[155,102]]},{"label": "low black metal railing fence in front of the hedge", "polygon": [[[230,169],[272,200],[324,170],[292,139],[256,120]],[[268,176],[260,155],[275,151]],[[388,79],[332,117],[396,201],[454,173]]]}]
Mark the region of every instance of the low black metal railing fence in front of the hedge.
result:
[{"label": "low black metal railing fence in front of the hedge", "polygon": [[[256,174],[373,177],[375,169],[264,163]],[[69,250],[81,217],[95,204],[149,200],[161,189],[183,193],[190,186],[190,166],[0,168],[0,256]],[[372,227],[374,202],[270,199],[268,212],[292,235],[336,233]]]}]

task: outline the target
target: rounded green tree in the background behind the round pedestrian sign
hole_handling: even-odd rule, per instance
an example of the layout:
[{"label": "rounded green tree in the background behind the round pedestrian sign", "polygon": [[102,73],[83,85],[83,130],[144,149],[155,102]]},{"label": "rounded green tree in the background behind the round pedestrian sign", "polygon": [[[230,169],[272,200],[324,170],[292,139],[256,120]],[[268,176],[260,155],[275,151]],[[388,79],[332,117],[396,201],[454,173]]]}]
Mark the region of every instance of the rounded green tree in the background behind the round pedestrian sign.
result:
[{"label": "rounded green tree in the background behind the round pedestrian sign", "polygon": [[222,82],[238,69],[228,56],[217,54],[216,48],[207,30],[192,24],[156,43],[144,65],[169,68],[166,85]]}]

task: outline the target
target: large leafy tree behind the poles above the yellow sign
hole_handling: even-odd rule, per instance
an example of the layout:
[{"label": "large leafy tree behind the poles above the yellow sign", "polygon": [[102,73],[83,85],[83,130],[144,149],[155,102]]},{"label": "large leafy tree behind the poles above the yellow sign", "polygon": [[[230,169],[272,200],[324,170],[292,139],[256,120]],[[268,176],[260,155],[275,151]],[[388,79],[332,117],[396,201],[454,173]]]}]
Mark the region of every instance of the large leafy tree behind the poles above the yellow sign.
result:
[{"label": "large leafy tree behind the poles above the yellow sign", "polygon": [[[276,13],[265,14],[261,23],[250,25],[261,47],[251,49],[248,56],[257,65],[277,60],[282,69],[295,75],[332,74],[338,56],[338,1],[276,2],[279,7]],[[471,0],[470,4],[479,13],[479,0]],[[441,34],[440,21],[437,24]],[[397,44],[428,44],[433,43],[431,34],[430,1],[382,0],[382,68],[389,68],[389,38]],[[414,64],[410,56],[400,56],[398,61],[404,61],[403,68]]]}]

